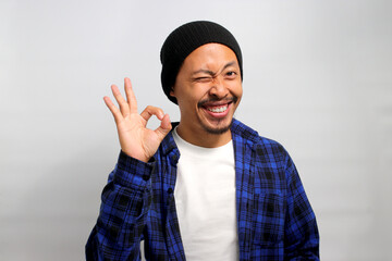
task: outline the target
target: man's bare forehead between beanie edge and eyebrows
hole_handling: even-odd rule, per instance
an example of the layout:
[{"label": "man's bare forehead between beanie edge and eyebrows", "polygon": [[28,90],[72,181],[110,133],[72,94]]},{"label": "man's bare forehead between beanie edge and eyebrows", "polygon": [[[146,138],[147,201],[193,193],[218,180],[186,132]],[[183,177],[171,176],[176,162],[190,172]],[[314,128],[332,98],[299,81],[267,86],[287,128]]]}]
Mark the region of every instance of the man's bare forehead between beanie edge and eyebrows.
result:
[{"label": "man's bare forehead between beanie edge and eyebrows", "polygon": [[237,58],[232,49],[221,44],[206,44],[186,57],[183,66],[199,67],[199,66],[219,66],[228,62],[235,62],[238,64]]}]

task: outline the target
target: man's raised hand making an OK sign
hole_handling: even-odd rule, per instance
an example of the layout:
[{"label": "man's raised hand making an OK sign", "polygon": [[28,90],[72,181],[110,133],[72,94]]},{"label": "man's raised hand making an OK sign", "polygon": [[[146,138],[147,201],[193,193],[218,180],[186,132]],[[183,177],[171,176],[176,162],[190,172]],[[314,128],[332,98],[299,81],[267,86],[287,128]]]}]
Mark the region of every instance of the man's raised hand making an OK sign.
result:
[{"label": "man's raised hand making an OK sign", "polygon": [[[111,86],[120,110],[109,97],[103,97],[103,100],[114,116],[121,150],[130,157],[148,162],[172,128],[170,117],[168,114],[163,114],[161,109],[150,105],[138,114],[136,97],[128,78],[124,79],[124,88],[126,100],[121,96],[115,85]],[[160,126],[155,130],[146,127],[148,120],[152,115],[156,115],[161,121]]]}]

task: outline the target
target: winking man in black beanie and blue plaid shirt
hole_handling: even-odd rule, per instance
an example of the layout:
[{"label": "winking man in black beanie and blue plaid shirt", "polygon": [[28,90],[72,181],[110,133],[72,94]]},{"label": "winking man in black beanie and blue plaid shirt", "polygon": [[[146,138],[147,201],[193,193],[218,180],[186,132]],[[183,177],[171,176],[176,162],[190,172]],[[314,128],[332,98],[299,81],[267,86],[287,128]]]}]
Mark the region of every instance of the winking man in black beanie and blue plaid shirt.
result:
[{"label": "winking man in black beanie and blue plaid shirt", "polygon": [[[233,119],[242,53],[232,34],[192,22],[161,49],[164,94],[180,108],[137,113],[131,82],[120,109],[105,97],[121,153],[102,192],[87,260],[318,260],[315,214],[287,152]],[[156,115],[160,126],[147,129]]]}]

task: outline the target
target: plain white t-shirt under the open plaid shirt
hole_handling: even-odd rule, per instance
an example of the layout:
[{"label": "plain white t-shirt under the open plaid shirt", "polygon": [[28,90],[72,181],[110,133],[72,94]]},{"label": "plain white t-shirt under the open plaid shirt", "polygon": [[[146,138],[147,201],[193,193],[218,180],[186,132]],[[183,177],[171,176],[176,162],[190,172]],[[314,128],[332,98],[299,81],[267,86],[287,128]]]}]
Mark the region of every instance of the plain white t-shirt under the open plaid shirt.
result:
[{"label": "plain white t-shirt under the open plaid shirt", "polygon": [[181,157],[174,188],[187,261],[238,260],[233,142],[203,148],[174,129]]}]

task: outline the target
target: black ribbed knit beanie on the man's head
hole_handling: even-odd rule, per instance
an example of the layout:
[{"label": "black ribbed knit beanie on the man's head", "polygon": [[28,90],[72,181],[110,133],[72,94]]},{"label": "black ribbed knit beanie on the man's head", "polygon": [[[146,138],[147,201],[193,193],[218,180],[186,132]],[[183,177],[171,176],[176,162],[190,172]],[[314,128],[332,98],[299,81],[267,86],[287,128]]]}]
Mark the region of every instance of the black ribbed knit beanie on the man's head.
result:
[{"label": "black ribbed knit beanie on the man's head", "polygon": [[241,49],[234,36],[223,26],[212,22],[191,22],[173,30],[163,42],[160,52],[162,88],[169,100],[177,103],[176,99],[170,96],[170,90],[185,58],[198,47],[210,42],[224,45],[234,51],[243,78]]}]

